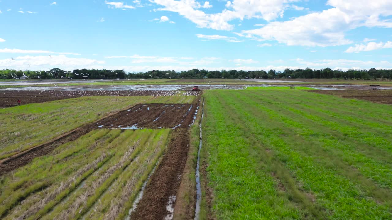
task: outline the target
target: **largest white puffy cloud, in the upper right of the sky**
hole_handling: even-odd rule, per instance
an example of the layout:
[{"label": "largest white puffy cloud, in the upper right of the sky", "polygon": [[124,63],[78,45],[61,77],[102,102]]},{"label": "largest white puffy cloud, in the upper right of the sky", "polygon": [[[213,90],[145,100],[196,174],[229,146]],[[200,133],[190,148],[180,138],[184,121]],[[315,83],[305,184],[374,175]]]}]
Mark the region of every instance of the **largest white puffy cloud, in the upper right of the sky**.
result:
[{"label": "largest white puffy cloud, in the upper right of the sky", "polygon": [[361,26],[392,27],[390,20],[380,16],[392,15],[390,0],[328,0],[331,9],[310,13],[284,22],[270,22],[260,29],[244,33],[264,40],[277,40],[287,45],[337,46],[352,43],[345,32]]}]

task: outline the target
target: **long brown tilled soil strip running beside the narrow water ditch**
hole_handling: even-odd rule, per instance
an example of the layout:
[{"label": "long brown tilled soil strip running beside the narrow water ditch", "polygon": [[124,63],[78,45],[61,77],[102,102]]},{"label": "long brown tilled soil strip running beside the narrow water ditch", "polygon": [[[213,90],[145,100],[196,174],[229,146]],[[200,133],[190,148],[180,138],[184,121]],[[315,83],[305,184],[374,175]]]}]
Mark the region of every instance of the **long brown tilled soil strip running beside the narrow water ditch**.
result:
[{"label": "long brown tilled soil strip running beside the narrow water ditch", "polygon": [[[166,209],[170,196],[176,196],[189,153],[189,127],[194,121],[200,99],[195,99],[191,110],[185,114],[183,122],[172,133],[168,150],[157,170],[147,184],[143,198],[132,214],[132,219],[164,219],[169,212]],[[175,207],[175,202],[173,204]]]}]

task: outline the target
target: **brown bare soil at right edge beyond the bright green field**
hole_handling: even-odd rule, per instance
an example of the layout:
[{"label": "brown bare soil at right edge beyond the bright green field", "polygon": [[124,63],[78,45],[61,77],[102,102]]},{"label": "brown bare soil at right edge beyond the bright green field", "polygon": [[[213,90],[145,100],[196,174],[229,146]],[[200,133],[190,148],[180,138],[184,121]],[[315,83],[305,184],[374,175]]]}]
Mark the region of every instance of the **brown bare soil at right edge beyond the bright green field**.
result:
[{"label": "brown bare soil at right edge beyond the bright green field", "polygon": [[374,103],[392,104],[392,90],[305,90],[320,94],[363,99]]}]

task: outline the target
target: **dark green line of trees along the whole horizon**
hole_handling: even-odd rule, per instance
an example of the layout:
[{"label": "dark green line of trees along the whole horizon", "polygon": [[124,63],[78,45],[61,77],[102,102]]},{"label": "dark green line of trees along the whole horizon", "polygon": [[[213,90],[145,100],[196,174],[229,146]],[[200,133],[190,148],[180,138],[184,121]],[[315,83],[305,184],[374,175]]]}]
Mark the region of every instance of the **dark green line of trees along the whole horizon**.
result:
[{"label": "dark green line of trees along the whole horizon", "polygon": [[28,79],[179,79],[179,78],[225,78],[225,79],[276,79],[276,78],[292,78],[292,79],[392,79],[392,69],[369,69],[347,71],[332,70],[330,68],[313,70],[306,69],[285,69],[283,72],[276,70],[221,70],[208,71],[205,69],[192,69],[188,71],[176,72],[174,70],[151,70],[148,72],[128,72],[124,70],[88,70],[77,69],[65,71],[58,68],[48,71],[31,71],[31,70],[0,70],[0,79],[18,79],[21,76],[27,76]]}]

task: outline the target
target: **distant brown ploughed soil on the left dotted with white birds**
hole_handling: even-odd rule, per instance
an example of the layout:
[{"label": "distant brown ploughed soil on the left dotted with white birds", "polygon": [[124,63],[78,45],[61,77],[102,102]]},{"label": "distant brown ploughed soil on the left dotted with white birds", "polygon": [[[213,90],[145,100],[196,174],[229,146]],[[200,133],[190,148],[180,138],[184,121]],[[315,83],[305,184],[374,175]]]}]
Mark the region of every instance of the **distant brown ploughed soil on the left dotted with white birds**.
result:
[{"label": "distant brown ploughed soil on the left dotted with white birds", "polygon": [[0,91],[0,108],[16,106],[18,99],[20,105],[25,105],[82,96],[171,96],[175,93],[177,91]]}]

